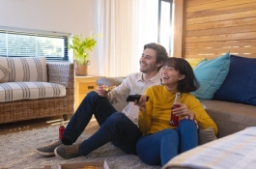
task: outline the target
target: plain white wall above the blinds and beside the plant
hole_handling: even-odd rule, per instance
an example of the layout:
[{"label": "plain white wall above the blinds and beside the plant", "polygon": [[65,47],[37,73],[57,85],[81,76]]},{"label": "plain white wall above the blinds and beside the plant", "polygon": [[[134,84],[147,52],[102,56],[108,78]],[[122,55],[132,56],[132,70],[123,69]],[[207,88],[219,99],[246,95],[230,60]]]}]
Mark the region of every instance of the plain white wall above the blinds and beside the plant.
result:
[{"label": "plain white wall above the blinds and beside the plant", "polygon": [[[96,0],[0,0],[0,26],[97,34]],[[98,73],[97,50],[90,54],[90,74]]]}]

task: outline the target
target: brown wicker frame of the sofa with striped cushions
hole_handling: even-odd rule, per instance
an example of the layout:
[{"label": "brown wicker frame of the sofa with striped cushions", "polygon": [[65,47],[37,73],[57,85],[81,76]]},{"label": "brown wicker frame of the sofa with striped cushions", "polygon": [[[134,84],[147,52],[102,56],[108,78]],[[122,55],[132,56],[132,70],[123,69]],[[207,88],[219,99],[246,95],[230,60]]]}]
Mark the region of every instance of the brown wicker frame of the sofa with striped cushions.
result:
[{"label": "brown wicker frame of the sofa with striped cushions", "polygon": [[[48,82],[66,87],[67,95],[61,98],[25,99],[0,102],[0,124],[38,119],[74,112],[73,64],[47,63]],[[65,116],[67,117],[67,116]]]}]

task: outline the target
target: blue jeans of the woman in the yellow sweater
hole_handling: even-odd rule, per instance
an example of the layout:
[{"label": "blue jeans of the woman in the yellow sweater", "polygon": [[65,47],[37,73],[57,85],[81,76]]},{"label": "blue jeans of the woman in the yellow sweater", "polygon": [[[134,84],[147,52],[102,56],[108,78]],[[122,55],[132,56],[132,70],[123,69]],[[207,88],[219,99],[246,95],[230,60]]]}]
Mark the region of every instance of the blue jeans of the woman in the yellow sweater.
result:
[{"label": "blue jeans of the woman in the yellow sweater", "polygon": [[182,120],[176,129],[166,128],[144,135],[136,145],[140,159],[149,165],[165,165],[174,156],[198,144],[194,121]]}]

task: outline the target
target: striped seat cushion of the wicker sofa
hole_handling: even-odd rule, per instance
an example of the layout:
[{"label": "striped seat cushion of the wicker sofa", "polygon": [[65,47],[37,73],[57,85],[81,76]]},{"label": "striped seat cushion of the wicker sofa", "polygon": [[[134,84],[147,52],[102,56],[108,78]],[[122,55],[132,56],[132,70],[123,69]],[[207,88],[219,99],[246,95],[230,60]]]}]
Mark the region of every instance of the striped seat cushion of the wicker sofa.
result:
[{"label": "striped seat cushion of the wicker sofa", "polygon": [[66,87],[48,82],[0,83],[0,102],[21,99],[45,99],[66,96]]}]

